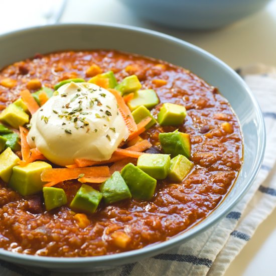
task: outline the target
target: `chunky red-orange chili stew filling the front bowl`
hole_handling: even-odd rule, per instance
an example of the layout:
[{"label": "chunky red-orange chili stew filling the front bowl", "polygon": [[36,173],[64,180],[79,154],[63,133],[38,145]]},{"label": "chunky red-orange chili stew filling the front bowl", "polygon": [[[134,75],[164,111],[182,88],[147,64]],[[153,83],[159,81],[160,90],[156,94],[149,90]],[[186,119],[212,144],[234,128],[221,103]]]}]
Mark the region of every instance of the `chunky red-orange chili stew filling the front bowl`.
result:
[{"label": "chunky red-orange chili stew filling the front bowl", "polygon": [[[190,133],[195,166],[182,183],[158,181],[151,201],[124,200],[109,206],[100,204],[84,223],[74,217],[69,204],[80,188],[77,181],[56,187],[65,190],[67,206],[47,212],[42,194],[22,197],[0,183],[0,247],[20,253],[56,257],[95,256],[139,249],[161,242],[203,220],[227,194],[242,164],[242,136],[239,122],[228,101],[218,90],[195,74],[166,62],[117,51],[67,51],[36,55],[0,72],[0,109],[28,87],[35,92],[69,78],[90,79],[86,70],[97,64],[103,72],[112,70],[118,81],[135,74],[143,89],[156,90],[160,104],[172,102],[187,109],[185,123],[178,127],[155,125],[143,133],[160,152],[158,134],[177,128]],[[30,80],[36,79],[30,83]],[[160,86],[155,79],[166,80]],[[79,141],[81,143],[81,141]],[[97,189],[97,185],[93,185]],[[116,237],[125,233],[127,242]]]}]

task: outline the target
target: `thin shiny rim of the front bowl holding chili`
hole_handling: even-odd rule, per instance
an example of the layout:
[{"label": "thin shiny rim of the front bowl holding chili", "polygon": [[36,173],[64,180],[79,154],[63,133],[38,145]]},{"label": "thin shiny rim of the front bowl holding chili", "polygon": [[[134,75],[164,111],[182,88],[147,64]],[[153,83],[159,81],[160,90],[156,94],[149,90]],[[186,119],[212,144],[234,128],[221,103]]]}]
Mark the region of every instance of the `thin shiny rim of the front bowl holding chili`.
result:
[{"label": "thin shiny rim of the front bowl holding chili", "polygon": [[[58,266],[59,264],[69,264],[70,266],[76,265],[76,264],[105,264],[106,261],[116,261],[120,259],[124,260],[132,260],[136,257],[141,257],[142,255],[146,257],[150,257],[156,254],[156,252],[161,253],[162,251],[168,250],[176,245],[180,245],[184,242],[184,240],[189,240],[193,238],[195,235],[202,233],[206,229],[213,226],[216,222],[218,222],[221,218],[223,218],[227,213],[231,211],[231,209],[237,204],[237,202],[245,195],[245,193],[250,188],[253,180],[255,179],[257,173],[259,172],[260,166],[262,164],[263,158],[264,158],[264,149],[265,149],[265,125],[264,125],[264,118],[262,116],[261,109],[259,107],[259,104],[255,98],[255,96],[250,91],[247,84],[242,80],[242,78],[227,64],[225,64],[223,61],[215,57],[214,55],[210,54],[209,52],[201,49],[198,46],[195,46],[189,42],[186,42],[184,40],[181,40],[179,38],[175,38],[173,36],[141,28],[141,27],[133,27],[128,25],[122,25],[122,24],[114,24],[114,23],[102,23],[102,22],[95,22],[91,24],[74,24],[74,23],[68,23],[68,24],[57,24],[57,25],[46,25],[46,26],[35,26],[30,28],[24,28],[16,31],[12,31],[9,33],[5,33],[0,35],[0,43],[1,40],[8,39],[9,37],[16,36],[18,34],[24,34],[36,31],[38,29],[48,29],[48,30],[54,30],[54,29],[63,29],[63,28],[89,28],[89,27],[105,27],[109,29],[120,29],[120,30],[128,30],[136,33],[144,33],[146,35],[151,35],[154,37],[159,37],[165,40],[169,40],[171,42],[174,42],[178,45],[182,45],[185,48],[189,48],[190,51],[197,52],[201,56],[208,57],[209,59],[215,61],[219,66],[224,67],[227,69],[227,71],[232,75],[232,77],[238,82],[240,86],[244,88],[244,90],[247,92],[248,96],[250,97],[250,100],[252,101],[252,104],[255,107],[255,115],[259,120],[259,124],[257,125],[257,132],[258,132],[258,152],[256,155],[256,162],[254,162],[252,166],[253,173],[246,179],[246,185],[244,185],[243,189],[239,192],[238,196],[225,208],[224,210],[221,210],[219,214],[214,215],[213,217],[209,218],[208,224],[203,225],[200,229],[194,230],[195,227],[192,227],[186,232],[180,233],[176,236],[170,237],[166,241],[162,241],[159,243],[151,244],[146,247],[135,249],[131,251],[121,252],[121,253],[114,253],[109,255],[101,255],[101,256],[89,256],[89,257],[48,257],[48,256],[37,256],[37,255],[28,255],[23,253],[17,253],[5,250],[3,248],[0,248],[0,257],[6,260],[10,260],[11,258],[15,261],[24,263],[25,261],[33,261],[33,265],[39,264],[39,263],[48,263],[52,264],[54,266]],[[221,204],[221,203],[220,203]],[[203,220],[204,221],[204,220]],[[129,261],[128,261],[129,262]],[[124,261],[123,263],[127,263],[127,261]],[[118,265],[120,263],[118,262]],[[107,263],[108,265],[108,263]],[[53,267],[54,267],[53,266]]]}]

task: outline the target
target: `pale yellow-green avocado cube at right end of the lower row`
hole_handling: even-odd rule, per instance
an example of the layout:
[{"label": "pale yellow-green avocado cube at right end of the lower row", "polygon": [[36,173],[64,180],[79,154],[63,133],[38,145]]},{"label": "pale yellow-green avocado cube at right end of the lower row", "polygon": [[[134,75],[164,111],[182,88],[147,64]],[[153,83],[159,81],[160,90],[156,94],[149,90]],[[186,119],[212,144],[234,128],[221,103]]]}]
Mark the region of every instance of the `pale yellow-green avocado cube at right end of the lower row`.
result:
[{"label": "pale yellow-green avocado cube at right end of the lower row", "polygon": [[168,177],[175,182],[181,182],[191,171],[193,163],[185,156],[179,154],[171,160]]}]

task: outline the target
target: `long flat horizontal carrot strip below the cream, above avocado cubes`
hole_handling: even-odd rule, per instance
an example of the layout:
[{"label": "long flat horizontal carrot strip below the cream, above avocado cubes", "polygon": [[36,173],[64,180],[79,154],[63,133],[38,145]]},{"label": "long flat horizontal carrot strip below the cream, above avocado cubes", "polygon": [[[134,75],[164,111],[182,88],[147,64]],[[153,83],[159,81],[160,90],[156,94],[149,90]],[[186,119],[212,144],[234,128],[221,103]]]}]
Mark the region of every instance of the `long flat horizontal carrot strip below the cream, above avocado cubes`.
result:
[{"label": "long flat horizontal carrot strip below the cream, above avocado cubes", "polygon": [[41,180],[46,182],[61,182],[65,180],[77,179],[81,177],[103,177],[110,176],[109,168],[90,167],[90,168],[61,168],[61,169],[46,169],[41,174]]}]

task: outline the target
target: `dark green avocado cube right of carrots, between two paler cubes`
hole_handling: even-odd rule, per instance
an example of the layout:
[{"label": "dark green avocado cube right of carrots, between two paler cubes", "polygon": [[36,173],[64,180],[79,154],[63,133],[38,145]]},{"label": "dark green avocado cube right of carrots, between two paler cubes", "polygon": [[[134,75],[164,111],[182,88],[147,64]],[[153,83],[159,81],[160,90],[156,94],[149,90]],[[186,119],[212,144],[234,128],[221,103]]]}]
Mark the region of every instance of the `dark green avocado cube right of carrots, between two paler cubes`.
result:
[{"label": "dark green avocado cube right of carrots, between two paler cubes", "polygon": [[165,154],[170,154],[172,157],[179,154],[191,157],[190,134],[178,130],[159,133],[159,141]]}]

